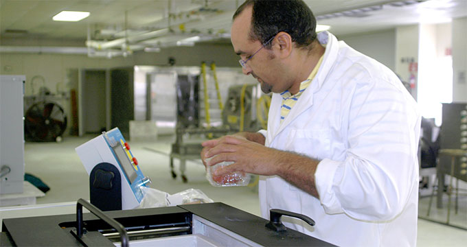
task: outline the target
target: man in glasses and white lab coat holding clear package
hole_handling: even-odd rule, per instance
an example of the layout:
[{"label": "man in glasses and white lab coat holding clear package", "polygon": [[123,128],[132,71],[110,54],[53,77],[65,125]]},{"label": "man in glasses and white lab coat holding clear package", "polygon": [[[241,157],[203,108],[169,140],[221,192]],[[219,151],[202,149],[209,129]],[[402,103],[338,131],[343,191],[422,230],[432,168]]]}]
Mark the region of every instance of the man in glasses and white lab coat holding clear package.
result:
[{"label": "man in glasses and white lab coat holding clear package", "polygon": [[[420,115],[397,76],[328,32],[303,1],[247,0],[231,42],[273,92],[268,129],[206,141],[218,175],[259,174],[262,216],[338,246],[415,246]],[[205,158],[213,157],[210,161]]]}]

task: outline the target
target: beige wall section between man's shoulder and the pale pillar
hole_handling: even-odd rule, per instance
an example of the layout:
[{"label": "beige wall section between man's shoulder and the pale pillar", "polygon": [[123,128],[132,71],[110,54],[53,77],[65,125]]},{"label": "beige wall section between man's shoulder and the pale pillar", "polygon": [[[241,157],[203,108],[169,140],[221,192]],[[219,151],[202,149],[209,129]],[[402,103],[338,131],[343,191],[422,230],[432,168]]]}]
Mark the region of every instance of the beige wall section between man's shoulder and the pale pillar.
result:
[{"label": "beige wall section between man's shoulder and the pale pillar", "polygon": [[381,30],[365,34],[339,36],[350,47],[385,64],[389,69],[396,69],[396,30]]}]

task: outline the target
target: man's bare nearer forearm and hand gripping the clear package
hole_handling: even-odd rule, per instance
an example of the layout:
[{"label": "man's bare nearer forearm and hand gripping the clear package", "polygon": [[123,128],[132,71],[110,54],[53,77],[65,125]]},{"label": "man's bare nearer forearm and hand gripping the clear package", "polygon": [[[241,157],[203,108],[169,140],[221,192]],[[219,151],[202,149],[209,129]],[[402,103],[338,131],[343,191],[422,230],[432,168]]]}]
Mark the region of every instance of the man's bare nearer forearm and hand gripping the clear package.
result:
[{"label": "man's bare nearer forearm and hand gripping the clear package", "polygon": [[[319,161],[292,152],[266,148],[262,134],[242,133],[247,132],[202,143],[204,148],[201,152],[201,159],[206,167],[223,161],[234,162],[216,169],[214,176],[232,172],[247,172],[264,176],[277,175],[319,198],[315,187],[315,172]],[[211,159],[206,161],[206,158]]]}]

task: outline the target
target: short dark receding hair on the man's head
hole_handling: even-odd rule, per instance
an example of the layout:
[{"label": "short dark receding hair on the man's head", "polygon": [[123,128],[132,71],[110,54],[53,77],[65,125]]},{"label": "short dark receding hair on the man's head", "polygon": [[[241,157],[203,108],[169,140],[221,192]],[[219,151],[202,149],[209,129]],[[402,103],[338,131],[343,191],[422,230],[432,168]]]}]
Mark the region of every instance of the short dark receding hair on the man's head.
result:
[{"label": "short dark receding hair on the man's head", "polygon": [[[236,10],[233,19],[253,5],[249,38],[262,44],[278,32],[286,32],[297,47],[309,47],[316,39],[316,19],[301,0],[247,0]],[[271,45],[266,45],[270,49]]]}]

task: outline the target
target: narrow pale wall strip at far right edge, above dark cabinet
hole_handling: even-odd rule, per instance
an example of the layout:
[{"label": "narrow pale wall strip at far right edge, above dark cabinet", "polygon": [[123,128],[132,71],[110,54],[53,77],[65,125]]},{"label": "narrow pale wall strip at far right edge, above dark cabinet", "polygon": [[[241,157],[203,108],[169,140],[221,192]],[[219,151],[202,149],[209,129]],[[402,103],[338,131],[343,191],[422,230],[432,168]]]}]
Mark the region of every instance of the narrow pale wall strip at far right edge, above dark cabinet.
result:
[{"label": "narrow pale wall strip at far right edge, above dark cabinet", "polygon": [[467,102],[467,17],[453,20],[453,102]]}]

